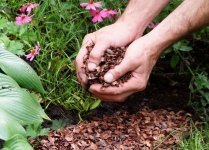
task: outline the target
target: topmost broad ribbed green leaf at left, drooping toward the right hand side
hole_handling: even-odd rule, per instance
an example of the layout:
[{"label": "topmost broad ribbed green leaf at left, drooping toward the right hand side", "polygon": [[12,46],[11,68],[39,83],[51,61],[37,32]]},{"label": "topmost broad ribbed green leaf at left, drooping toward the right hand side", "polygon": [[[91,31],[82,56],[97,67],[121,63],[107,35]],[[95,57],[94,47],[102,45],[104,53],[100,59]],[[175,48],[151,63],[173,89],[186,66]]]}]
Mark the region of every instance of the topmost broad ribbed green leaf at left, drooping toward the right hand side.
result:
[{"label": "topmost broad ribbed green leaf at left, drooping toward the right hand side", "polygon": [[36,72],[22,59],[0,46],[0,68],[20,86],[44,93]]}]

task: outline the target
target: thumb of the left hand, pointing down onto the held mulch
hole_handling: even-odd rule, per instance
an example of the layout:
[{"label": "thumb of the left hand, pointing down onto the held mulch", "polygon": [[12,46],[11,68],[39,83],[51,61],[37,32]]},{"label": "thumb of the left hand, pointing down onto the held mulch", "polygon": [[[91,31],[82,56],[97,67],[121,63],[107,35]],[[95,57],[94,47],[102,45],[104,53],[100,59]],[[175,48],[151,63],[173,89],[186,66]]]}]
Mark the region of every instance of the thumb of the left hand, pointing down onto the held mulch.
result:
[{"label": "thumb of the left hand, pointing down onto the held mulch", "polygon": [[109,44],[106,44],[103,41],[98,41],[95,43],[94,48],[89,54],[88,70],[94,71],[96,69],[101,62],[101,58],[107,48],[109,48]]}]

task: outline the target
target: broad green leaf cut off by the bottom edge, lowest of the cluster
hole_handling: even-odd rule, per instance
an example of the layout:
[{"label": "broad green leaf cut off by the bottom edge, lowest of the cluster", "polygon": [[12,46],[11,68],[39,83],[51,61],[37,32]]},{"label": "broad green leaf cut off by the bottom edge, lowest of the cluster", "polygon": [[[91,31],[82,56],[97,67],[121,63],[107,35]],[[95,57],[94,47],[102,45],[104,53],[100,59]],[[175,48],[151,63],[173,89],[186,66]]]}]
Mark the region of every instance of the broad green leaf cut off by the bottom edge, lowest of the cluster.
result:
[{"label": "broad green leaf cut off by the bottom edge, lowest of the cluster", "polygon": [[3,150],[33,150],[27,139],[17,134],[5,142]]}]

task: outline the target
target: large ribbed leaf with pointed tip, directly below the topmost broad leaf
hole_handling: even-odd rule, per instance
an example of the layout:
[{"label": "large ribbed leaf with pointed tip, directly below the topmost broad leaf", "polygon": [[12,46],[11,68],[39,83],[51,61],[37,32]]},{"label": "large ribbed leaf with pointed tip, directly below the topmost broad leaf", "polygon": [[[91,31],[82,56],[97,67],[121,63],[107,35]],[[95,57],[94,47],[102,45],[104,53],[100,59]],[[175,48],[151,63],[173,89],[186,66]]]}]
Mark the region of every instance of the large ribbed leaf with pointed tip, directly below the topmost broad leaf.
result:
[{"label": "large ribbed leaf with pointed tip, directly below the topmost broad leaf", "polygon": [[50,120],[35,97],[20,88],[0,90],[0,109],[22,125]]}]

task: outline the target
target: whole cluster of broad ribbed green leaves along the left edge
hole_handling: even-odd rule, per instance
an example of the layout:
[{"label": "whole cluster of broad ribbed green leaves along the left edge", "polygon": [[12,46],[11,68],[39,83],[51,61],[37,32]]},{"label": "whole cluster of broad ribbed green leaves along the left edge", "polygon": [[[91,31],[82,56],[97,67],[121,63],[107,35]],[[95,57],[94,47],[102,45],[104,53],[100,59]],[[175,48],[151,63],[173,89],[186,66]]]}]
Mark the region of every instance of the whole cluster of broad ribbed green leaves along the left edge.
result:
[{"label": "whole cluster of broad ribbed green leaves along the left edge", "polygon": [[35,96],[24,88],[41,93],[44,89],[35,71],[3,47],[0,47],[0,68],[0,138],[6,141],[5,149],[21,146],[31,149],[23,125],[40,124],[49,117]]}]

